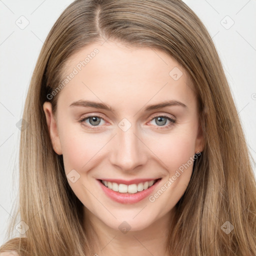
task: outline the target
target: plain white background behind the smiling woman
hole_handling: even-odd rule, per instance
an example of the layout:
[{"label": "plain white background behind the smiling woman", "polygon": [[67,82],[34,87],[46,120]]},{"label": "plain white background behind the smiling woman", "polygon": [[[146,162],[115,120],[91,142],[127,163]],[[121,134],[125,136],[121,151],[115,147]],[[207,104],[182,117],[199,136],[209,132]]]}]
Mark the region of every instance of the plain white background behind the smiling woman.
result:
[{"label": "plain white background behind the smiling woman", "polygon": [[[71,2],[0,0],[0,245],[5,241],[7,220],[12,218],[12,204],[18,192],[20,130],[16,123],[22,117],[29,81],[43,41],[60,13]],[[216,45],[248,148],[255,160],[256,1],[184,2],[205,24]],[[15,23],[21,23],[22,15],[29,21],[24,29]],[[25,19],[22,19],[22,24],[25,24]]]}]

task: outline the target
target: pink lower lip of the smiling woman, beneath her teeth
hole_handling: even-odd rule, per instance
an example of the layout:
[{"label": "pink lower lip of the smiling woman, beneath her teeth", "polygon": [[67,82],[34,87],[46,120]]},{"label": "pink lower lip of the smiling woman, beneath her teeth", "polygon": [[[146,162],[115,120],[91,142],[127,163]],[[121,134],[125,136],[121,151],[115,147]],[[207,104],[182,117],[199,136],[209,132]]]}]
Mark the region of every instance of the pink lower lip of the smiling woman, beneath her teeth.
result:
[{"label": "pink lower lip of the smiling woman, beneath her teeth", "polygon": [[99,185],[101,186],[101,188],[103,189],[103,191],[106,193],[108,197],[110,197],[114,201],[117,201],[120,203],[126,203],[126,204],[135,203],[147,197],[154,190],[154,188],[156,187],[156,185],[159,183],[160,180],[161,179],[159,178],[152,186],[150,186],[145,190],[136,192],[134,194],[132,193],[127,194],[127,193],[119,193],[119,192],[113,191],[112,189],[109,189],[108,187],[104,186],[102,182],[99,179],[97,179],[97,181],[99,182]]}]

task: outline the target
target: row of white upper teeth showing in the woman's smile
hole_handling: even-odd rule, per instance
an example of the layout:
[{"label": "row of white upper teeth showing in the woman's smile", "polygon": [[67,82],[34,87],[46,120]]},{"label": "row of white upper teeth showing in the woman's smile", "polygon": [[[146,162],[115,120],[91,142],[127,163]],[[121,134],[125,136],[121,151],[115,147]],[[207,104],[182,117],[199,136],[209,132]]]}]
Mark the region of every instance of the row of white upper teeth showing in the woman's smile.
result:
[{"label": "row of white upper teeth showing in the woman's smile", "polygon": [[140,182],[138,184],[117,184],[115,182],[110,182],[106,180],[102,180],[101,182],[108,187],[109,189],[112,189],[113,191],[119,192],[119,193],[136,193],[140,192],[142,190],[147,189],[148,187],[152,186],[154,184],[155,180]]}]

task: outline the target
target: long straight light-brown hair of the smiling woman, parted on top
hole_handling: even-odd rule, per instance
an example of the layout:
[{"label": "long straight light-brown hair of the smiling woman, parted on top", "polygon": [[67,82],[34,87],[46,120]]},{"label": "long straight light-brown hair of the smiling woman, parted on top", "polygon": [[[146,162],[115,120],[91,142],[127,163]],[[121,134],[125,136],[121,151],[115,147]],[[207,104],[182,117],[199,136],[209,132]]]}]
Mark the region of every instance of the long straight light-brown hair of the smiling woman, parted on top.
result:
[{"label": "long straight light-brown hair of the smiling woman, parted on top", "polygon": [[20,139],[17,213],[29,229],[10,239],[13,221],[0,251],[95,253],[82,225],[83,205],[68,185],[62,155],[52,149],[42,104],[50,101],[55,111],[59,93],[52,99],[47,94],[59,85],[67,59],[108,38],[163,50],[187,70],[197,94],[205,146],[175,206],[170,255],[256,255],[252,157],[213,42],[181,0],[75,0],[57,19],[38,57],[23,113],[28,125]]}]

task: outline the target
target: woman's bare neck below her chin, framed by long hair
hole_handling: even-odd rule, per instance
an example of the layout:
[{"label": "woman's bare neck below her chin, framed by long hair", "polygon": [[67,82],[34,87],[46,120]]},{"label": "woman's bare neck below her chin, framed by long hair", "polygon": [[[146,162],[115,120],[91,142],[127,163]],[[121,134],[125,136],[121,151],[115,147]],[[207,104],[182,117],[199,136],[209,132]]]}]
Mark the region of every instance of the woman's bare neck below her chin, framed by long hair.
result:
[{"label": "woman's bare neck below her chin, framed by long hair", "polygon": [[169,256],[167,237],[173,216],[174,208],[142,230],[122,232],[107,226],[84,207],[85,230],[95,256]]}]

